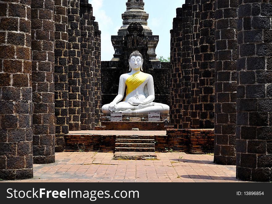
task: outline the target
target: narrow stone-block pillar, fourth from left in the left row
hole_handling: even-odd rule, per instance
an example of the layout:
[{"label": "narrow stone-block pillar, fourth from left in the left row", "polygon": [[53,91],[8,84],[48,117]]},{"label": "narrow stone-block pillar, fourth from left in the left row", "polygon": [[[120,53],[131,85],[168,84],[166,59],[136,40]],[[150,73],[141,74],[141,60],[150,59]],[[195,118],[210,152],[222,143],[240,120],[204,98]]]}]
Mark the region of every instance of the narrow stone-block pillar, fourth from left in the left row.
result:
[{"label": "narrow stone-block pillar, fourth from left in the left row", "polygon": [[79,0],[68,1],[68,98],[69,130],[80,130],[81,51]]}]

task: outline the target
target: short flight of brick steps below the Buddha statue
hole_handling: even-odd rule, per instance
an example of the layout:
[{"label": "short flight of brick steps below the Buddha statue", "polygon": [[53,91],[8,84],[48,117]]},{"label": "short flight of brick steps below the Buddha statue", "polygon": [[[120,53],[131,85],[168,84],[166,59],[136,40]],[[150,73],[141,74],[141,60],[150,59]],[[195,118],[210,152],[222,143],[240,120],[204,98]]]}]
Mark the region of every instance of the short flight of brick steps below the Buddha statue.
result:
[{"label": "short flight of brick steps below the Buddha statue", "polygon": [[154,136],[117,135],[115,152],[155,152]]}]

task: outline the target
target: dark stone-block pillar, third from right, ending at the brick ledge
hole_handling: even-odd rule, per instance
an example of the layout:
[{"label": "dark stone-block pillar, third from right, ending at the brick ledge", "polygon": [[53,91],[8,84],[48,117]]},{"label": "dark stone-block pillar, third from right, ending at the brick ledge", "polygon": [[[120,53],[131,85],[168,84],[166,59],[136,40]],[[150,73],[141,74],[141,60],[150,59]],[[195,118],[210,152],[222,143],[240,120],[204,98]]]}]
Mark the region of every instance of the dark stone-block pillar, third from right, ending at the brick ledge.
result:
[{"label": "dark stone-block pillar, third from right, ending at the brick ledge", "polygon": [[[224,1],[225,2],[225,1]],[[201,1],[200,16],[200,121],[199,128],[214,128],[215,0]]]}]

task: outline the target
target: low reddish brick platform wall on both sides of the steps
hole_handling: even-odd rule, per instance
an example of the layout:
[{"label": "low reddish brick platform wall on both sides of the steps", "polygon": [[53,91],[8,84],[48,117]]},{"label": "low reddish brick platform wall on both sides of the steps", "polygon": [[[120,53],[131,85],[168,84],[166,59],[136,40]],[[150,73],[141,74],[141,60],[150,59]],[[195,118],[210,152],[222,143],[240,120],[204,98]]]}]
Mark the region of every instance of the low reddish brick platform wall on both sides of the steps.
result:
[{"label": "low reddish brick platform wall on both sides of the steps", "polygon": [[[213,129],[175,130],[168,129],[167,135],[152,135],[155,151],[181,151],[191,153],[210,153],[214,151]],[[116,135],[66,135],[65,151],[114,151]]]}]

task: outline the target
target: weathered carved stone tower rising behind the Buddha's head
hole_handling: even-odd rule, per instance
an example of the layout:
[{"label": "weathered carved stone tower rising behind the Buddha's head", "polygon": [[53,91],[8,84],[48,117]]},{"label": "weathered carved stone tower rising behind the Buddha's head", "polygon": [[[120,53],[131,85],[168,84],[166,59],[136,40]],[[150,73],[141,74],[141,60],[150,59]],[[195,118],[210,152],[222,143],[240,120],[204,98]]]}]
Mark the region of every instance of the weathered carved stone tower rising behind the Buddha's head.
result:
[{"label": "weathered carved stone tower rising behind the Buddha's head", "polygon": [[[160,67],[156,59],[155,49],[159,42],[159,36],[153,36],[151,29],[147,26],[148,14],[144,11],[143,0],[128,0],[127,10],[122,14],[123,25],[117,36],[112,36],[112,44],[115,50],[112,61],[118,61],[128,66],[129,53],[138,50],[146,57],[145,65]],[[128,55],[128,56],[127,56]],[[123,62],[123,63],[122,63]]]}]

